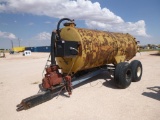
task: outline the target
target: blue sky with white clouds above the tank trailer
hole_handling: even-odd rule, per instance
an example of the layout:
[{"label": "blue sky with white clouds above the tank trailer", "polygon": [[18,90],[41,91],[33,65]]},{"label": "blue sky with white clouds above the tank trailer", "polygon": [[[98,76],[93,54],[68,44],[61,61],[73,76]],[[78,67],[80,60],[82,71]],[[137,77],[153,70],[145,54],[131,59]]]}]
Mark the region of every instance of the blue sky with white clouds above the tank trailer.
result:
[{"label": "blue sky with white clouds above the tank trailer", "polygon": [[[61,18],[76,27],[130,33],[160,44],[160,0],[0,0],[0,49],[50,45]],[[61,26],[63,27],[63,26]]]}]

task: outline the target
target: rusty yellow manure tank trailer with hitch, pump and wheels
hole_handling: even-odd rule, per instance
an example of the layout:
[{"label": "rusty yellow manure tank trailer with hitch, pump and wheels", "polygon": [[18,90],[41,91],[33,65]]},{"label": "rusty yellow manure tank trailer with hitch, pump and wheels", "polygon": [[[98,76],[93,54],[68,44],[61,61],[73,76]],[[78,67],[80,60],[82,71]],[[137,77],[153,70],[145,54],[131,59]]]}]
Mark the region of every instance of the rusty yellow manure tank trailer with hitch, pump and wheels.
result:
[{"label": "rusty yellow manure tank trailer with hitch, pump and wheels", "polygon": [[[63,21],[64,27],[60,28]],[[51,52],[45,66],[41,91],[25,98],[17,111],[26,110],[48,101],[72,86],[88,80],[103,71],[114,76],[118,88],[127,88],[142,76],[142,64],[132,59],[137,53],[137,41],[130,34],[76,28],[69,18],[61,19],[52,32]],[[112,77],[113,77],[112,76]]]}]

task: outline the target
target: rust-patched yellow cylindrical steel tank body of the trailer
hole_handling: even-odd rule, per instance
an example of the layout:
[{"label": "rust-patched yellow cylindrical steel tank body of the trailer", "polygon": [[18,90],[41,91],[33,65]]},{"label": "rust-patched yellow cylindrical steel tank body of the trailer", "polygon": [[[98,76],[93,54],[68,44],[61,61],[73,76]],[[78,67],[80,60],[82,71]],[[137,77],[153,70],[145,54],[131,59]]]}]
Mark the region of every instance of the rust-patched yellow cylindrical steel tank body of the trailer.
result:
[{"label": "rust-patched yellow cylindrical steel tank body of the trailer", "polygon": [[118,64],[130,60],[137,52],[137,42],[128,33],[82,29],[72,24],[62,28],[60,35],[63,40],[80,43],[77,56],[56,57],[57,64],[66,74],[111,63]]}]

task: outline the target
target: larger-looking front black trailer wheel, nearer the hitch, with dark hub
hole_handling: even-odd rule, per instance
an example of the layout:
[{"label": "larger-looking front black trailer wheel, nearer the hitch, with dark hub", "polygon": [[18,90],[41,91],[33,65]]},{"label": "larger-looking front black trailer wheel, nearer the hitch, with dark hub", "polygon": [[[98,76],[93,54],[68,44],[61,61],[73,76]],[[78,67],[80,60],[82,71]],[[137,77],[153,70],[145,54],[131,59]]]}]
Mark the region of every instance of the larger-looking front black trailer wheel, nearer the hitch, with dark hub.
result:
[{"label": "larger-looking front black trailer wheel, nearer the hitch, with dark hub", "polygon": [[129,63],[121,62],[117,64],[114,72],[114,80],[117,87],[127,88],[132,82],[132,71]]}]

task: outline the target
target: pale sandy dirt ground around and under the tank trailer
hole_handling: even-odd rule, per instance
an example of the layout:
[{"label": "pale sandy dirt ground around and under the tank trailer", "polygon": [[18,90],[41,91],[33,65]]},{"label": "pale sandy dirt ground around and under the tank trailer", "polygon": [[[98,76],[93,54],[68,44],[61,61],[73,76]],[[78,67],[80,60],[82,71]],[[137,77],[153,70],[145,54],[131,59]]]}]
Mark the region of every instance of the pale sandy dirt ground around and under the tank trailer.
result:
[{"label": "pale sandy dirt ground around and under the tank trailer", "polygon": [[141,81],[117,89],[107,73],[91,78],[57,99],[29,110],[16,111],[22,99],[38,92],[48,53],[0,58],[1,120],[158,120],[160,119],[160,56],[137,54],[143,65]]}]

